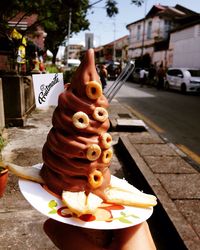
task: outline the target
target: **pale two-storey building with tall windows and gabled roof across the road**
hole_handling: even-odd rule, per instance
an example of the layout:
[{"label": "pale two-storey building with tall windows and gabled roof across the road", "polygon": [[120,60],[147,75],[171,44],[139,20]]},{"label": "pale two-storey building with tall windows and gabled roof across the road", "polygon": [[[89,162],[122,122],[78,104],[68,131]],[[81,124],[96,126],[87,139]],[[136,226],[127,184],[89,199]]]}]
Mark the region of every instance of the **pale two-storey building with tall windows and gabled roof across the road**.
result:
[{"label": "pale two-storey building with tall windows and gabled roof across the road", "polygon": [[170,32],[183,25],[186,18],[196,14],[180,5],[154,5],[143,19],[126,26],[129,30],[129,59],[149,55],[154,65],[171,65]]}]

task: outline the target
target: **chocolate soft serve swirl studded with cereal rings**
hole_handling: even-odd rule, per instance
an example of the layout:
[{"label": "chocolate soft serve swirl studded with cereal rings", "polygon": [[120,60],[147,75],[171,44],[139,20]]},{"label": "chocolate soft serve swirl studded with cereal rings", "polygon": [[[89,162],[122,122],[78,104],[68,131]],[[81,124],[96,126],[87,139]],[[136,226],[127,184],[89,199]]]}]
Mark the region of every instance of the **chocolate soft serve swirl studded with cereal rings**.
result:
[{"label": "chocolate soft serve swirl studded with cereal rings", "polygon": [[72,82],[60,94],[43,147],[41,176],[53,192],[93,192],[104,198],[110,183],[108,101],[89,49]]}]

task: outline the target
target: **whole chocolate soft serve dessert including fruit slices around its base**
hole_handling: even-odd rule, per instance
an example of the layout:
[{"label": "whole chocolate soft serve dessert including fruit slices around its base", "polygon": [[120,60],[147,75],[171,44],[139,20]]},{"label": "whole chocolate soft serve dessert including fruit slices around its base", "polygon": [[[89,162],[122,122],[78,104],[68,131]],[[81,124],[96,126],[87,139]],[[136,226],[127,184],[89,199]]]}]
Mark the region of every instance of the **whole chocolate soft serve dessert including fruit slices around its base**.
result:
[{"label": "whole chocolate soft serve dessert including fruit slices around its base", "polygon": [[94,213],[102,202],[149,207],[156,197],[125,180],[111,178],[112,137],[108,101],[90,49],[72,82],[60,94],[52,128],[43,146],[41,170],[6,163],[21,178],[45,183],[77,215]]}]

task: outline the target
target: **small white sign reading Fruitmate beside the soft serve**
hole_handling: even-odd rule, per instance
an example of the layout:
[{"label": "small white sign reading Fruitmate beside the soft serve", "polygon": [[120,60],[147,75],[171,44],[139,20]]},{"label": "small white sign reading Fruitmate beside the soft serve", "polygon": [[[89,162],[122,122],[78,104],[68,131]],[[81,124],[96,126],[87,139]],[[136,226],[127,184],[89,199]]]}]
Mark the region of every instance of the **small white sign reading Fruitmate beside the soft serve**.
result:
[{"label": "small white sign reading Fruitmate beside the soft serve", "polygon": [[64,90],[63,74],[33,74],[32,77],[36,107],[57,106],[58,96]]}]

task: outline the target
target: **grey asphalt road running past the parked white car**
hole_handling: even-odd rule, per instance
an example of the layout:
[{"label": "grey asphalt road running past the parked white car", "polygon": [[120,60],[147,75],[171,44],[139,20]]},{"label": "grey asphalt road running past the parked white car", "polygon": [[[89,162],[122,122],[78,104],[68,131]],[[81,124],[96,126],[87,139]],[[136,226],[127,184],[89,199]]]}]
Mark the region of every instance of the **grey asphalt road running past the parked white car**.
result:
[{"label": "grey asphalt road running past the parked white car", "polygon": [[115,98],[200,164],[200,95],[141,88],[127,82]]}]

